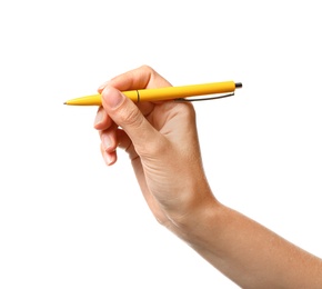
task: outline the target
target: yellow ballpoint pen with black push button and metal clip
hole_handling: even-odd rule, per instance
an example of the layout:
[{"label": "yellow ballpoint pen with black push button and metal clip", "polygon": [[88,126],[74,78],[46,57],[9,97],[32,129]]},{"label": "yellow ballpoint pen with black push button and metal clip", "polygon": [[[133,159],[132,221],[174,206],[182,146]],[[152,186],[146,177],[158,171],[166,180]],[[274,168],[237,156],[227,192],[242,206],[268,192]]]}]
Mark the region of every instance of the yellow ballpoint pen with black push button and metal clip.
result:
[{"label": "yellow ballpoint pen with black push button and metal clip", "polygon": [[[134,102],[172,100],[172,99],[192,101],[192,100],[189,100],[189,98],[207,96],[207,94],[218,94],[218,93],[230,92],[230,94],[215,97],[215,98],[230,97],[230,96],[233,96],[233,92],[237,88],[241,88],[241,87],[242,87],[241,82],[223,81],[223,82],[210,82],[210,83],[183,86],[183,87],[165,87],[165,88],[128,90],[128,91],[122,91],[122,93]],[[199,100],[199,99],[194,98],[193,100]],[[85,96],[85,97],[68,100],[64,102],[64,104],[101,106],[102,100],[101,100],[101,94],[92,94],[92,96]]]}]

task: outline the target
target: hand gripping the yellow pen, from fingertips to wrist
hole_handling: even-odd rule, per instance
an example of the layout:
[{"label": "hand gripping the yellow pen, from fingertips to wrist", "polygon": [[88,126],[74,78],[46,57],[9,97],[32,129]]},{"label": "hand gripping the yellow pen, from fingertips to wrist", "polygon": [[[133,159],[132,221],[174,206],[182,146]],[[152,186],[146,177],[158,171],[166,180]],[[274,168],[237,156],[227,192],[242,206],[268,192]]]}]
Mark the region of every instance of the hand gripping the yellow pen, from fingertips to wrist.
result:
[{"label": "hand gripping the yellow pen, from fingertips to wrist", "polygon": [[168,86],[145,66],[105,82],[94,128],[107,165],[117,161],[118,147],[124,149],[155,218],[180,235],[180,227],[214,200],[202,169],[194,109],[174,101],[134,104],[120,92]]}]

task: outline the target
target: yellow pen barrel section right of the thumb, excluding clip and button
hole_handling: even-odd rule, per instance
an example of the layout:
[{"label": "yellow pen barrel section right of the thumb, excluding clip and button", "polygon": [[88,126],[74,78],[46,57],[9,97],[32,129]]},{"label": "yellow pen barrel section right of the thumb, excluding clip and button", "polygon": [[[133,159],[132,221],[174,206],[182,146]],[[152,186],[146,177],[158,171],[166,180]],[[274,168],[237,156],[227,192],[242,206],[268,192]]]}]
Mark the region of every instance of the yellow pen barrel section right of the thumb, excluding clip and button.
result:
[{"label": "yellow pen barrel section right of the thumb, excluding clip and button", "polygon": [[235,90],[234,81],[211,82],[183,87],[165,87],[155,89],[142,89],[123,91],[131,100],[139,101],[158,101],[178,98],[189,98],[205,94],[227,93]]}]

